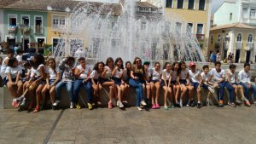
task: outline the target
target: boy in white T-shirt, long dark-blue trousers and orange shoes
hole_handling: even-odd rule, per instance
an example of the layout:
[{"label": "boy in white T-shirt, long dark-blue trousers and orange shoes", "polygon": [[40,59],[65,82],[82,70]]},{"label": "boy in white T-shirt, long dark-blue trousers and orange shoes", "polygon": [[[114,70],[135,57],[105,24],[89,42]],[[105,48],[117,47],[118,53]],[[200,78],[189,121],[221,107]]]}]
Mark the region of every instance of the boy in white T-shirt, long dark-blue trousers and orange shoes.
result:
[{"label": "boy in white T-shirt, long dark-blue trousers and orange shoes", "polygon": [[230,106],[236,107],[236,104],[233,102],[234,95],[235,95],[234,88],[229,82],[225,81],[225,71],[221,69],[220,66],[221,66],[221,63],[217,61],[215,63],[215,68],[212,68],[212,70],[210,71],[210,74],[212,76],[209,78],[210,82],[213,81],[214,85],[218,84],[218,87],[219,87],[218,106],[224,107],[224,104],[223,104],[224,88],[227,88],[230,94]]}]

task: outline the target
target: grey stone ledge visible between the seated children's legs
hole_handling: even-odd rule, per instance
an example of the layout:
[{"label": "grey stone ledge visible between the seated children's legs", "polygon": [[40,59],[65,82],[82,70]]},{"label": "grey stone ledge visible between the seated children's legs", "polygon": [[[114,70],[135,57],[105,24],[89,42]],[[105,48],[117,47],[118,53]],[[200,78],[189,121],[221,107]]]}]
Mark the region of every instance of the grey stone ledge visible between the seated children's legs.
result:
[{"label": "grey stone ledge visible between the seated children's legs", "polygon": [[[217,89],[216,89],[217,90]],[[196,93],[194,93],[194,100],[197,101]],[[227,90],[224,90],[224,104],[227,104],[228,102],[228,97],[227,95]],[[201,91],[201,99],[202,103],[206,105],[206,99],[207,99],[207,91],[202,90]],[[102,107],[108,107],[108,89],[103,88],[101,91],[101,101],[102,101]],[[127,96],[127,101],[128,101],[128,106],[129,107],[134,107],[136,106],[136,93],[135,89],[130,88],[130,94]],[[188,101],[188,97],[185,97],[183,99],[183,104],[186,104]],[[253,98],[250,97],[250,101],[253,101]],[[6,87],[0,88],[0,109],[9,109],[13,108],[11,105],[12,102],[12,97],[9,94],[9,90]],[[218,104],[218,98],[212,98],[212,102],[214,104]],[[80,90],[79,93],[79,103],[83,107],[86,107],[87,105],[87,95],[85,95],[84,89]],[[164,104],[164,90],[160,89],[160,98],[159,98],[159,103],[162,106]],[[116,101],[113,100],[113,105],[116,105]],[[69,107],[70,106],[70,101],[69,101],[69,96],[67,95],[67,91],[65,88],[61,89],[61,107]]]}]

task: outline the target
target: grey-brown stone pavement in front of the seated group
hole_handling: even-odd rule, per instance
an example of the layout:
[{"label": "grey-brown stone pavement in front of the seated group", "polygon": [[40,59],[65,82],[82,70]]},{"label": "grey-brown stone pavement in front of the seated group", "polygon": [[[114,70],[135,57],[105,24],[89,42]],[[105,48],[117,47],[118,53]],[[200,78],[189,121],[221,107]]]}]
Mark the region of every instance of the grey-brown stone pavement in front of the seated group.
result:
[{"label": "grey-brown stone pavement in front of the seated group", "polygon": [[1,144],[164,144],[256,141],[256,107],[183,107],[137,111],[136,107],[0,110]]}]

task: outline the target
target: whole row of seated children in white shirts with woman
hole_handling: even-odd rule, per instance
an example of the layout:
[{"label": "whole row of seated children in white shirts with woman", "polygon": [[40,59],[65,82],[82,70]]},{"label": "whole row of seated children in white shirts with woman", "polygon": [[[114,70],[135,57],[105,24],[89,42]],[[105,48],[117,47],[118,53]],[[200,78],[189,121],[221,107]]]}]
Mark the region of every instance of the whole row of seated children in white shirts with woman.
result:
[{"label": "whole row of seated children in white shirts with woman", "polygon": [[[89,109],[102,105],[102,87],[109,88],[109,109],[113,108],[113,99],[116,100],[117,107],[124,107],[129,100],[127,97],[131,96],[130,87],[136,90],[136,106],[140,111],[143,110],[141,106],[160,108],[160,89],[164,91],[166,110],[170,107],[183,107],[186,96],[188,96],[186,106],[203,107],[202,89],[207,90],[207,106],[212,105],[212,96],[216,96],[219,107],[224,107],[225,88],[228,89],[228,105],[231,107],[242,103],[251,106],[249,90],[253,94],[253,100],[256,100],[256,87],[251,82],[248,63],[244,64],[244,69],[236,76],[236,65],[231,64],[230,71],[225,72],[221,69],[220,62],[216,62],[211,71],[207,65],[200,70],[196,68],[195,62],[190,62],[187,66],[184,61],[173,61],[172,64],[166,62],[161,69],[159,62],[155,62],[153,68],[149,68],[150,62],[142,63],[139,57],[136,57],[132,63],[126,61],[125,66],[122,58],[113,60],[109,57],[105,63],[96,62],[93,69],[90,69],[84,57],[80,57],[78,66],[75,66],[76,60],[71,56],[63,58],[59,64],[56,64],[53,58],[45,60],[44,55],[40,54],[29,56],[26,62],[20,60],[19,54],[17,56],[15,57],[14,49],[9,49],[7,57],[3,60],[1,72],[6,74],[4,84],[13,97],[14,107],[28,106],[28,110],[33,112],[39,112],[44,107],[45,95],[48,92],[52,108],[58,107],[62,87],[67,89],[70,108],[81,108],[79,105],[81,88],[85,89],[88,96]],[[218,94],[215,88],[219,89]],[[197,102],[194,101],[195,92]]]}]

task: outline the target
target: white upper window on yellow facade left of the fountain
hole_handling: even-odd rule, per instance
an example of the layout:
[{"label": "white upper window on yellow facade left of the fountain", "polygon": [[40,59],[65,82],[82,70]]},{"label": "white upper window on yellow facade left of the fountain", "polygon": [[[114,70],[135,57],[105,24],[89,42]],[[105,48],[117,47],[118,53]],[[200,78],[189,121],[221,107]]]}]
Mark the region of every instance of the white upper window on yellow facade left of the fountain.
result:
[{"label": "white upper window on yellow facade left of the fountain", "polygon": [[51,28],[58,29],[58,30],[65,30],[66,29],[65,16],[53,15]]}]

